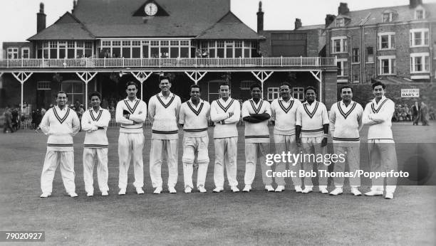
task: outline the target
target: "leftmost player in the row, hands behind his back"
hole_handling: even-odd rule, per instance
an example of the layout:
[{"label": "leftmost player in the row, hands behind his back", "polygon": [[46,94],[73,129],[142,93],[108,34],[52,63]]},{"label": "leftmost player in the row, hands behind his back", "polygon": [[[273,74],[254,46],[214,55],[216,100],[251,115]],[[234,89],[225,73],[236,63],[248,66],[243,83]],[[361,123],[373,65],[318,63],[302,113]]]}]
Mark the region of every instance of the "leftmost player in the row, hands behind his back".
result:
[{"label": "leftmost player in the row, hands behind his back", "polygon": [[67,107],[68,95],[60,91],[56,95],[55,107],[44,114],[39,127],[48,136],[47,153],[41,173],[41,198],[51,196],[53,178],[58,165],[61,164],[61,176],[66,192],[76,197],[74,183],[74,149],[73,136],[81,129],[81,122],[73,109]]}]

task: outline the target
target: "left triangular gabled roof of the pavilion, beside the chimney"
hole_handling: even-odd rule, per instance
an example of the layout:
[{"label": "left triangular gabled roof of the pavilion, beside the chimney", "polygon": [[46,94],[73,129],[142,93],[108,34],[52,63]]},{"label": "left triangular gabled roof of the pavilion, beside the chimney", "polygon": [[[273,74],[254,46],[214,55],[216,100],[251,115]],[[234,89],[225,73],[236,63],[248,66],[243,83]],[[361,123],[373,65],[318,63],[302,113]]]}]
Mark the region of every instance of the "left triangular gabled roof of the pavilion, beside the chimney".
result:
[{"label": "left triangular gabled roof of the pavilion, beside the chimney", "polygon": [[28,41],[38,40],[93,40],[93,34],[75,16],[66,12],[53,25],[36,33]]}]

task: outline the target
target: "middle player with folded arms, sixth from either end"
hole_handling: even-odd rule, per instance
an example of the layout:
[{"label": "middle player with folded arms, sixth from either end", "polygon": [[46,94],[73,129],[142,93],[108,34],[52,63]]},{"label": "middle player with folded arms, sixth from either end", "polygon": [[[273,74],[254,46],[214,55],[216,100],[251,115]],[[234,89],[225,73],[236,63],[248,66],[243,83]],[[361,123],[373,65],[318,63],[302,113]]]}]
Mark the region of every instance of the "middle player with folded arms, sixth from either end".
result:
[{"label": "middle player with folded arms, sixth from either end", "polygon": [[224,191],[224,166],[227,180],[233,192],[239,192],[237,181],[238,130],[241,105],[230,97],[230,87],[226,82],[219,85],[218,100],[210,105],[210,119],[215,123],[214,146],[214,192]]}]

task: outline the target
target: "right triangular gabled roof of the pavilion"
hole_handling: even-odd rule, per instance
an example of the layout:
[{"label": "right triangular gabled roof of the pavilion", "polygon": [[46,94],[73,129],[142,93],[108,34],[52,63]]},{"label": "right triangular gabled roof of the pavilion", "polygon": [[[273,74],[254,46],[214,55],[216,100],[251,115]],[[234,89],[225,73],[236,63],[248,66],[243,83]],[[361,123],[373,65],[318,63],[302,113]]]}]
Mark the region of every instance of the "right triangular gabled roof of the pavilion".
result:
[{"label": "right triangular gabled roof of the pavilion", "polygon": [[196,39],[261,39],[251,28],[246,26],[232,11],[224,15]]}]

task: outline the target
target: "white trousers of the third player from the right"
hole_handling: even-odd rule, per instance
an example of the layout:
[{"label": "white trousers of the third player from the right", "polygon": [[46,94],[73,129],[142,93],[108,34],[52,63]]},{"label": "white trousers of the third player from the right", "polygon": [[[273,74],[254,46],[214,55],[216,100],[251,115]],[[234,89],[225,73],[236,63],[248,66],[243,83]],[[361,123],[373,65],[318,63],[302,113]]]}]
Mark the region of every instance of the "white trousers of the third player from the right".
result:
[{"label": "white trousers of the third player from the right", "polygon": [[[323,141],[323,137],[302,137],[301,138],[301,149],[303,150],[303,154],[314,154],[315,163],[316,163],[316,155],[322,154],[325,156],[327,151],[327,146],[321,147],[321,141]],[[313,171],[313,157],[309,160],[306,159],[306,162],[303,163],[303,169],[306,173]],[[318,164],[318,171],[327,170],[327,166],[322,162],[316,163]],[[327,177],[319,176],[319,172],[317,173],[319,188],[327,188]],[[303,183],[305,187],[313,187],[312,178],[303,178]]]}]

